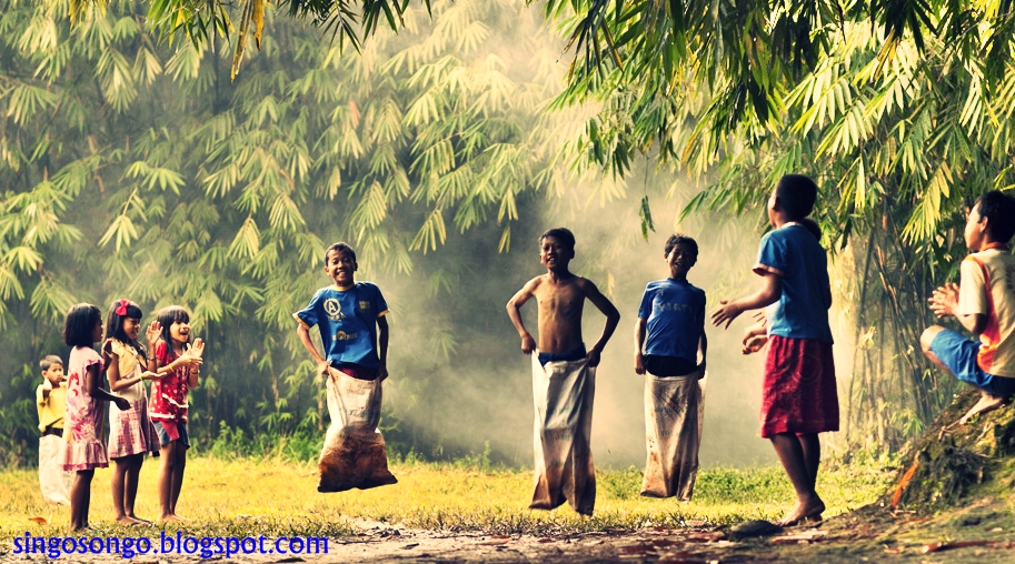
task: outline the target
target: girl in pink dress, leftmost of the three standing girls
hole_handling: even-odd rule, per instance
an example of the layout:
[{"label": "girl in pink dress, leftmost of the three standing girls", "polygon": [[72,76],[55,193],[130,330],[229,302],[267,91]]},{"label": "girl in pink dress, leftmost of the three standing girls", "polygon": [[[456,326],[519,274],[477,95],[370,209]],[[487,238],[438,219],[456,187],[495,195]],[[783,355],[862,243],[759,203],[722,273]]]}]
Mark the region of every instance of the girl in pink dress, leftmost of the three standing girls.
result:
[{"label": "girl in pink dress, leftmost of the three standing girls", "polygon": [[102,433],[102,406],[113,402],[120,410],[130,403],[99,386],[102,357],[92,345],[102,340],[102,312],[90,303],[70,309],[63,322],[63,342],[72,348],[67,363],[67,414],[63,417],[63,470],[76,472],[70,490],[70,527],[88,528],[91,479],[94,469],[109,465]]}]

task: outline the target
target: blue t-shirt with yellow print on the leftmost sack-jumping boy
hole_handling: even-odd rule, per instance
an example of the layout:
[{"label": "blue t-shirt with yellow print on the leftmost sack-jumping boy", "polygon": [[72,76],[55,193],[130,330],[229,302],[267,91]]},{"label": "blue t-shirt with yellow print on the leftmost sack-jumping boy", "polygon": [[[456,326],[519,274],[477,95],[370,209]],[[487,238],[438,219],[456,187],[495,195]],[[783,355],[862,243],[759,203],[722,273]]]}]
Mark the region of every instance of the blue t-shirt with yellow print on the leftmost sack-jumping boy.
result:
[{"label": "blue t-shirt with yellow print on the leftmost sack-jumping boy", "polygon": [[319,325],[325,357],[332,366],[357,364],[376,369],[377,319],[388,313],[388,304],[377,284],[357,282],[340,290],[321,288],[310,304],[292,314],[307,329]]}]

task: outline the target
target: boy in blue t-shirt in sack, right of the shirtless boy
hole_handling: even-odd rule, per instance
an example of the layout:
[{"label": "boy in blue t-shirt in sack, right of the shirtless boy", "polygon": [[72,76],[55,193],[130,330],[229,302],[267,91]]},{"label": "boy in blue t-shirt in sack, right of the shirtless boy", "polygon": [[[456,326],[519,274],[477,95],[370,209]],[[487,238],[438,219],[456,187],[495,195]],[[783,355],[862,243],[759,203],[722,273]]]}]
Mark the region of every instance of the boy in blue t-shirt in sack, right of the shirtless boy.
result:
[{"label": "boy in blue t-shirt in sack, right of the shirtless boy", "polygon": [[[645,473],[641,495],[690,501],[701,445],[705,292],[687,281],[698,243],[670,235],[669,278],[649,282],[635,325],[635,372],[645,376]],[[701,363],[698,364],[698,353]]]}]

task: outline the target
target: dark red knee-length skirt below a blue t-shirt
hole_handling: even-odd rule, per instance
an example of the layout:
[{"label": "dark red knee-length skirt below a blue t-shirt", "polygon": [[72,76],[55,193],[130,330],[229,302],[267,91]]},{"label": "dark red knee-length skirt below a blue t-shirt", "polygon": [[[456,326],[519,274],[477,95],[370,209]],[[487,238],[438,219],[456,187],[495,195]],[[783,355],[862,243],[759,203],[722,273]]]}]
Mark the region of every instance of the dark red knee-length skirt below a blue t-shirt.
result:
[{"label": "dark red knee-length skirt below a blue t-shirt", "polygon": [[772,335],[762,390],[762,436],[838,431],[832,343]]}]

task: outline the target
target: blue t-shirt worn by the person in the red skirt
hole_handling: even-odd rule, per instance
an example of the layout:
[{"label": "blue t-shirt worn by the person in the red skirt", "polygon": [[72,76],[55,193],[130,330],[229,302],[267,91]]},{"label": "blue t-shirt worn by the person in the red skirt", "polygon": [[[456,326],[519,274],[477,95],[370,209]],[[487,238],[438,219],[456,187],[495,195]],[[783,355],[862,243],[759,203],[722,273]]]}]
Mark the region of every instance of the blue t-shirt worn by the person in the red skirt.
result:
[{"label": "blue t-shirt worn by the person in the red skirt", "polygon": [[766,233],[754,271],[783,279],[779,301],[768,306],[769,335],[832,342],[828,259],[807,228],[792,222]]}]

